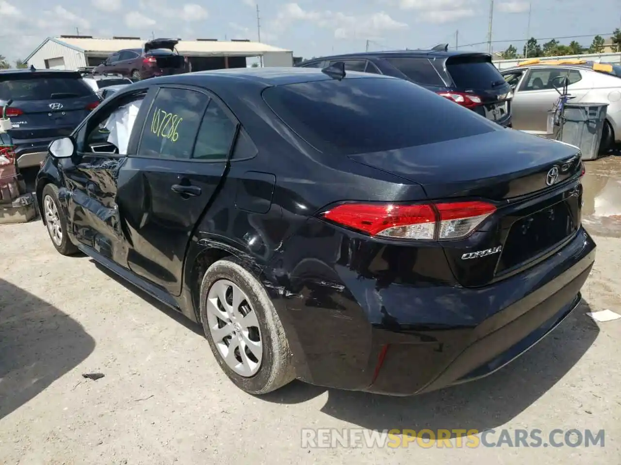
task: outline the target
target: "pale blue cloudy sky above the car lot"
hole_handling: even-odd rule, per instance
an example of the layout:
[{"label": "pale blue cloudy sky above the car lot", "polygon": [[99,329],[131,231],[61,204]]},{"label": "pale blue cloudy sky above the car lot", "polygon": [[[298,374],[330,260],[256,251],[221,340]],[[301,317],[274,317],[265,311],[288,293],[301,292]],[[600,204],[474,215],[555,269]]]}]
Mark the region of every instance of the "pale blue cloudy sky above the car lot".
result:
[{"label": "pale blue cloudy sky above the car lot", "polygon": [[[496,0],[494,6],[493,40],[525,38],[528,1]],[[489,0],[260,0],[259,7],[261,42],[304,58],[365,50],[367,40],[369,50],[452,46],[456,30],[460,46],[487,40]],[[255,0],[0,0],[0,17],[0,54],[10,60],[29,55],[47,36],[75,34],[76,28],[94,37],[257,37]],[[621,0],[532,1],[533,37],[594,35],[616,27]],[[592,38],[577,40],[589,45]],[[494,43],[494,50],[508,45]]]}]

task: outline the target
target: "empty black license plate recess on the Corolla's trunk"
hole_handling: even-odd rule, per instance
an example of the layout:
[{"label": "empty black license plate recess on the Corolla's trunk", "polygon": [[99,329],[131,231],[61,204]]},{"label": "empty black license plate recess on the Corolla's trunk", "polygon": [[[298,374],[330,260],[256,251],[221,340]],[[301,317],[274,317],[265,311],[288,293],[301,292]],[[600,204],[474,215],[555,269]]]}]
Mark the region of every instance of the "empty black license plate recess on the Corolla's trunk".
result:
[{"label": "empty black license plate recess on the Corolla's trunk", "polygon": [[546,206],[510,226],[496,273],[507,272],[553,249],[578,231],[578,197]]}]

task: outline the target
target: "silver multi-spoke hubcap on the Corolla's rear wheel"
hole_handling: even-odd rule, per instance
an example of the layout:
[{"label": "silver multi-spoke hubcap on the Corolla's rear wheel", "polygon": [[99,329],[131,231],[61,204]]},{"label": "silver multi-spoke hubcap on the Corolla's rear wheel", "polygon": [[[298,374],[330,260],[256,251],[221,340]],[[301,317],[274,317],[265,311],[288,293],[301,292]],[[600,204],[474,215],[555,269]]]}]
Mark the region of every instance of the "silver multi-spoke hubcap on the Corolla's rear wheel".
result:
[{"label": "silver multi-spoke hubcap on the Corolla's rear wheel", "polygon": [[231,370],[248,377],[261,368],[263,344],[255,309],[231,281],[215,281],[209,289],[207,324],[215,347]]}]

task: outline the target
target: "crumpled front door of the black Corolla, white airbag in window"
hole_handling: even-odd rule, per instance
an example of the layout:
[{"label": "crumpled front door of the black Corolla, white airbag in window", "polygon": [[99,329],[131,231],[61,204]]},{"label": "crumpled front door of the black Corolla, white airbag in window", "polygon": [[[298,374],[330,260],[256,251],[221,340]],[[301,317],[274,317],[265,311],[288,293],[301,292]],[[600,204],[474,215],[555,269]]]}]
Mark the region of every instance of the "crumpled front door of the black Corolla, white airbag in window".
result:
[{"label": "crumpled front door of the black Corolla, white airbag in window", "polygon": [[137,146],[135,128],[142,128],[140,121],[155,92],[142,87],[101,104],[76,132],[76,155],[60,161],[68,190],[69,224],[76,239],[124,267],[127,234],[117,203],[117,183],[127,154]]}]

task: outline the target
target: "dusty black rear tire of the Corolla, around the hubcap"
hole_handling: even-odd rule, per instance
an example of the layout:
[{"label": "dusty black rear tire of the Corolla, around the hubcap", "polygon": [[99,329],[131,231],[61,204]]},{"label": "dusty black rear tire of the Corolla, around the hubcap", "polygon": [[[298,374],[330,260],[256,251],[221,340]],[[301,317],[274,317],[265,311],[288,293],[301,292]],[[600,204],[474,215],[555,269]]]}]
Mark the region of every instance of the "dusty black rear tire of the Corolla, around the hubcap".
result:
[{"label": "dusty black rear tire of the Corolla, around the hubcap", "polygon": [[[212,285],[223,279],[237,285],[246,294],[248,303],[255,311],[258,320],[261,332],[262,360],[258,371],[250,377],[240,376],[227,365],[209,330],[207,295]],[[220,368],[237,387],[248,392],[248,394],[266,394],[295,379],[289,343],[280,318],[265,288],[233,257],[213,263],[202,279],[201,323],[211,351]]]}]

